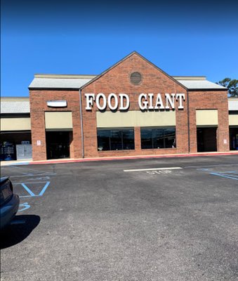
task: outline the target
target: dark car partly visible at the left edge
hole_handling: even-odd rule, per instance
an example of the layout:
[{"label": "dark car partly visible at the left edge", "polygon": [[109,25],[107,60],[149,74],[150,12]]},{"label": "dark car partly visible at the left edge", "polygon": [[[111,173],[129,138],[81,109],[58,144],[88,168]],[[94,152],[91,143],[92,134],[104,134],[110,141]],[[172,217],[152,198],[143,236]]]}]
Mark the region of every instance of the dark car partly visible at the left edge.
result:
[{"label": "dark car partly visible at the left edge", "polygon": [[19,196],[13,194],[13,184],[7,177],[1,178],[1,222],[0,228],[4,228],[11,222],[19,208]]}]

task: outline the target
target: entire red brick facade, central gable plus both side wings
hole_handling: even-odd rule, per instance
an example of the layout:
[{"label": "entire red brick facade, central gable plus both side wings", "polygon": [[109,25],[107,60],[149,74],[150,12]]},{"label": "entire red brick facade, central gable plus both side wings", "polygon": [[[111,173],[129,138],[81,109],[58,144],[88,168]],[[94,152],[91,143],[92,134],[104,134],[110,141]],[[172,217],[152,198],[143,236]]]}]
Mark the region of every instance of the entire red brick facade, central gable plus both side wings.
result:
[{"label": "entire red brick facade, central gable plus both side wings", "polygon": [[[131,84],[130,75],[132,72],[140,72],[142,81],[138,85]],[[135,150],[124,151],[98,151],[97,144],[97,122],[95,103],[91,111],[87,111],[85,93],[126,93],[130,98],[129,110],[139,110],[138,96],[140,93],[161,93],[165,103],[164,93],[185,93],[184,109],[178,110],[176,103],[176,148],[141,150],[140,148],[140,127],[135,127]],[[112,67],[100,78],[85,86],[81,91],[82,114],[84,129],[84,153],[85,157],[108,157],[125,155],[162,155],[171,153],[189,152],[189,134],[187,117],[187,91],[176,81],[168,77],[164,72],[154,67],[140,57],[133,54],[126,60]],[[229,126],[228,126],[228,102],[226,91],[192,91],[189,93],[190,103],[190,152],[197,152],[197,126],[196,109],[217,109],[218,110],[218,151],[229,150]],[[47,100],[67,100],[65,108],[47,107]],[[73,135],[70,139],[70,157],[82,157],[81,147],[81,122],[79,111],[79,91],[30,91],[30,110],[32,122],[32,148],[33,159],[46,159],[46,138],[45,138],[45,111],[72,111]],[[110,110],[108,107],[106,110]],[[224,144],[227,139],[227,144]],[[37,141],[41,145],[37,146]]]}]

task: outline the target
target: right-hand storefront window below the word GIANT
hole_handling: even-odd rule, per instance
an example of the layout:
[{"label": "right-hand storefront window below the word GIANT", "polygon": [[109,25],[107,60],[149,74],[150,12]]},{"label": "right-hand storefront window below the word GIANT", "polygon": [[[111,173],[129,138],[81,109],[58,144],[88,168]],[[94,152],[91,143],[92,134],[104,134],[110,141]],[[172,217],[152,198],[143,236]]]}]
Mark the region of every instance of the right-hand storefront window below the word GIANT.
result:
[{"label": "right-hand storefront window below the word GIANT", "polygon": [[142,149],[176,148],[175,128],[141,128]]}]

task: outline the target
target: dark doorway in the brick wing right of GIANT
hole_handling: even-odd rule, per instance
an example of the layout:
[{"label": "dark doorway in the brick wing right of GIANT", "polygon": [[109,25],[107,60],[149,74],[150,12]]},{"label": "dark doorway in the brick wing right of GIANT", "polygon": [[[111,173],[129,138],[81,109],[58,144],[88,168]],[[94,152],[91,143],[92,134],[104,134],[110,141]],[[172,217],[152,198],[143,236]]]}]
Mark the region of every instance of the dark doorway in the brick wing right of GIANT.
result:
[{"label": "dark doorway in the brick wing right of GIANT", "polygon": [[217,151],[215,127],[197,128],[197,152]]}]

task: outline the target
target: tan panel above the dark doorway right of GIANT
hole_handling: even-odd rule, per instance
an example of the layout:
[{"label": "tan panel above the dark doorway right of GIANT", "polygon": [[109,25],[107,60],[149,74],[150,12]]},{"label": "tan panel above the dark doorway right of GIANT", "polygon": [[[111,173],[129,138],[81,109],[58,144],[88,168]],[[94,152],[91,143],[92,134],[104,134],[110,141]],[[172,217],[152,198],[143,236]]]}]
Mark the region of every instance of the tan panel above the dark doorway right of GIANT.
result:
[{"label": "tan panel above the dark doorway right of GIANT", "polygon": [[218,110],[196,110],[198,126],[218,125]]}]

